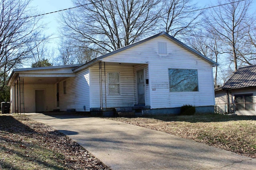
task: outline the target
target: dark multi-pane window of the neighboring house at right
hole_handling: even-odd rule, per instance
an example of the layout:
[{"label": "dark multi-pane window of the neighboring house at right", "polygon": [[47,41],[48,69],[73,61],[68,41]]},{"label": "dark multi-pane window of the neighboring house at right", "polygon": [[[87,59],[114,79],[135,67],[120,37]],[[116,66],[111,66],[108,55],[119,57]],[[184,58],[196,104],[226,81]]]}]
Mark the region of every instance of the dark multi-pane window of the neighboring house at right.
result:
[{"label": "dark multi-pane window of the neighboring house at right", "polygon": [[252,94],[235,96],[236,110],[253,110]]}]

